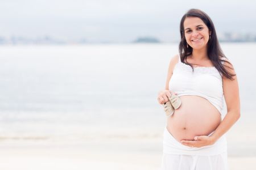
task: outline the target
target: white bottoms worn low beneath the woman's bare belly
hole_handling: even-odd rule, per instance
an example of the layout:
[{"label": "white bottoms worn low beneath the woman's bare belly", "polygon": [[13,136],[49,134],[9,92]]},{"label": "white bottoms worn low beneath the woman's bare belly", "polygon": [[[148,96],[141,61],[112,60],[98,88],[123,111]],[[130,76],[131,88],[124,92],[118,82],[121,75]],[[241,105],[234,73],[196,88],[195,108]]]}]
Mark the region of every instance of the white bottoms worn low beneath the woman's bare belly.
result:
[{"label": "white bottoms worn low beneath the woman's bare belly", "polygon": [[161,170],[227,170],[226,139],[221,137],[214,145],[192,148],[178,142],[164,130]]}]

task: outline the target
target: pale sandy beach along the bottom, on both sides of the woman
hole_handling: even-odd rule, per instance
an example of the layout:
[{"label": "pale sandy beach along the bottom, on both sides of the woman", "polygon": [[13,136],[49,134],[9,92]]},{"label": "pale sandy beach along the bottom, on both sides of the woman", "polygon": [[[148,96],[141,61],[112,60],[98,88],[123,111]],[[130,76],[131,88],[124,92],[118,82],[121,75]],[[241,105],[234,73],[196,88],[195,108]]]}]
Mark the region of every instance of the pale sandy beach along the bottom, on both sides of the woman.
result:
[{"label": "pale sandy beach along the bottom, on both sides of the woman", "polygon": [[[256,169],[252,125],[238,121],[226,134],[230,170]],[[0,138],[0,169],[159,170],[163,128],[105,129],[108,133],[77,138]]]}]

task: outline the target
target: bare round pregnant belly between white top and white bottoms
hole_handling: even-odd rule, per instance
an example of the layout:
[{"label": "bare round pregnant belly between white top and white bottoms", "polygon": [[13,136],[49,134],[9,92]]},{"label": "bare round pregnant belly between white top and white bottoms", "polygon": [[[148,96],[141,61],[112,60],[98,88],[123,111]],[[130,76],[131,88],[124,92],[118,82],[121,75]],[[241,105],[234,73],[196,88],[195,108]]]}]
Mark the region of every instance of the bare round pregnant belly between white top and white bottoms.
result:
[{"label": "bare round pregnant belly between white top and white bottoms", "polygon": [[199,96],[180,96],[180,99],[180,108],[167,119],[167,130],[177,141],[209,135],[220,124],[220,112],[207,99]]}]

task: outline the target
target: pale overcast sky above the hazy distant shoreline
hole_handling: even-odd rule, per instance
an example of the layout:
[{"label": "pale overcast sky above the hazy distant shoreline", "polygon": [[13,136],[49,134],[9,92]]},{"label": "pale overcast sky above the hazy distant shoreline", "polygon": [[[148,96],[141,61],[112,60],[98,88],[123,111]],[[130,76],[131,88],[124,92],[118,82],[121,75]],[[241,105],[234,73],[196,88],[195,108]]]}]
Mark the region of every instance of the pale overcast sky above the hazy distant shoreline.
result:
[{"label": "pale overcast sky above the hazy distant shoreline", "polygon": [[0,0],[0,36],[168,42],[179,39],[180,19],[190,8],[205,11],[217,33],[256,33],[256,2],[249,0]]}]

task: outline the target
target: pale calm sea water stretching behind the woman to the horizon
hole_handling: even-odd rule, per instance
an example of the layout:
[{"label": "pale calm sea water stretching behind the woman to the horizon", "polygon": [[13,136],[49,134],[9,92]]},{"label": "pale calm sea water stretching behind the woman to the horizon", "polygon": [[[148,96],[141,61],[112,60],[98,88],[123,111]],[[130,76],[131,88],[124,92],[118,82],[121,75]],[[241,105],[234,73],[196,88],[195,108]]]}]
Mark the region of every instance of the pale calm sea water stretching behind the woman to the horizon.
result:
[{"label": "pale calm sea water stretching behind the woman to the horizon", "polygon": [[[242,117],[230,138],[256,147],[256,44],[221,46],[240,85]],[[0,143],[159,138],[166,118],[156,97],[177,51],[177,44],[0,46]]]}]

